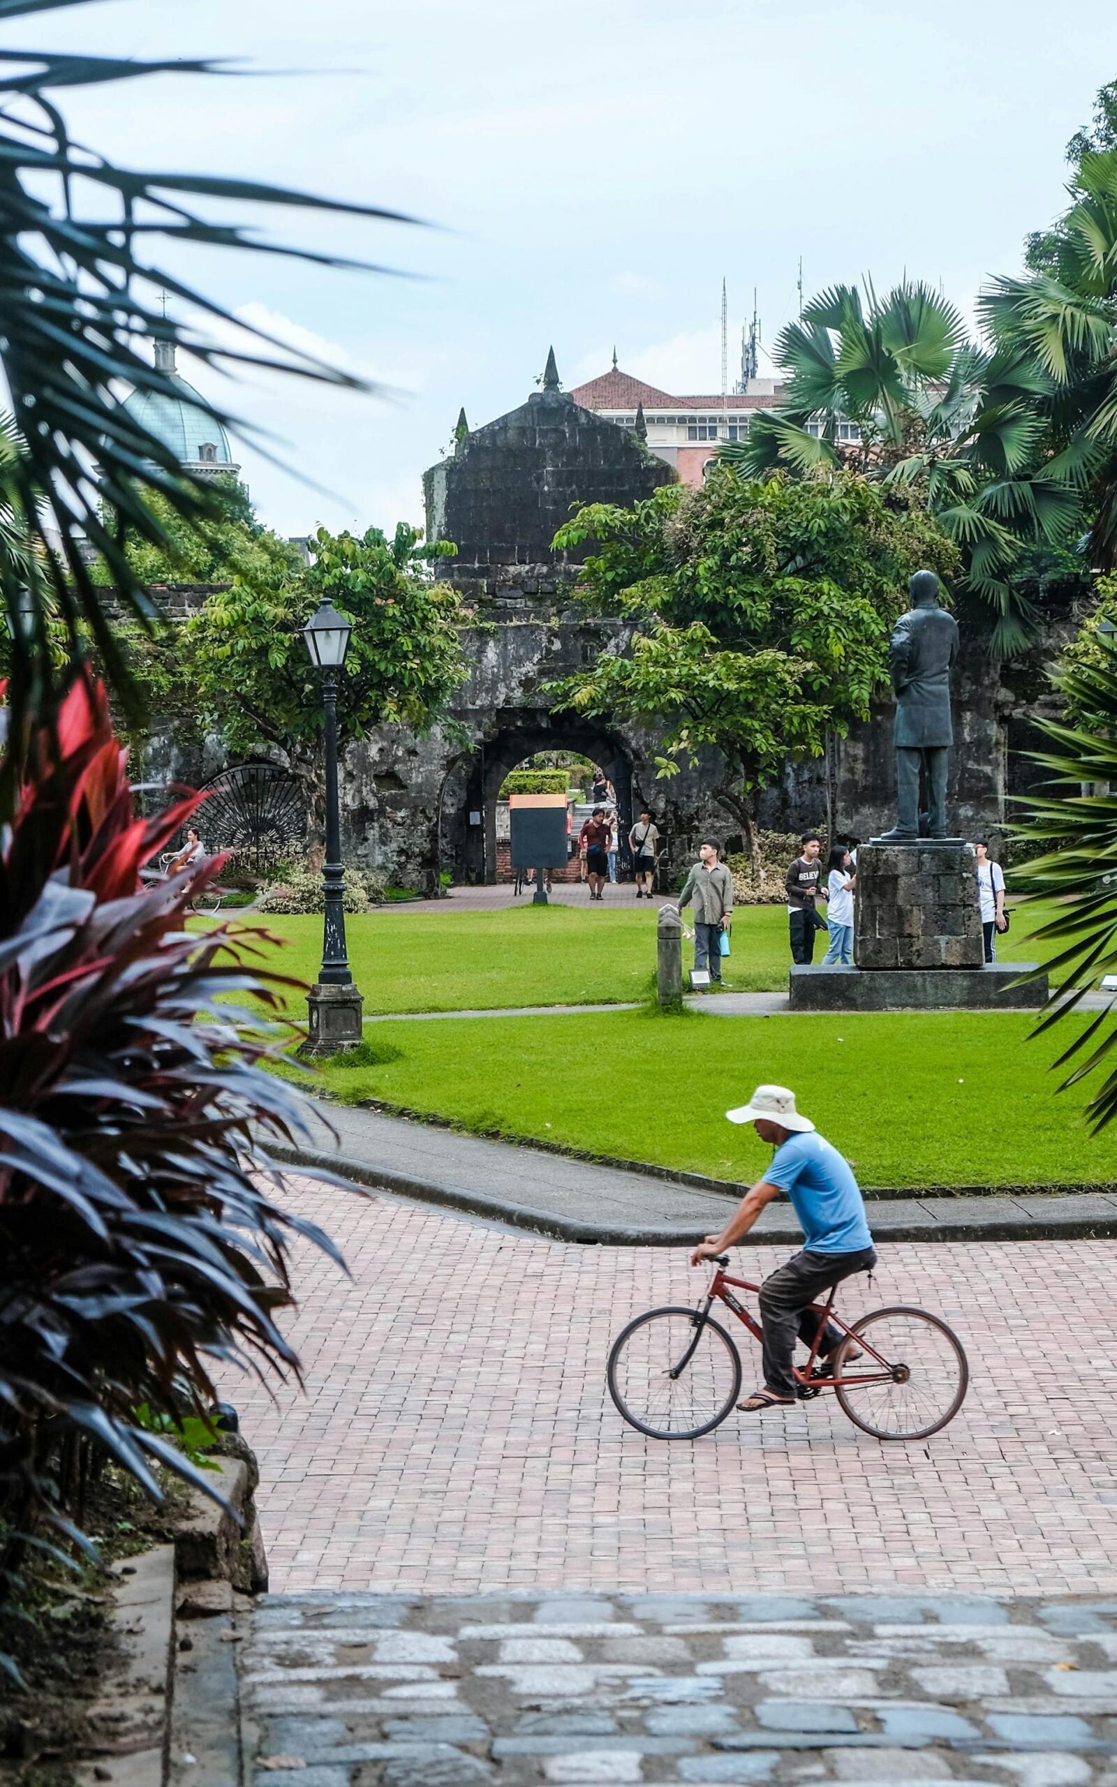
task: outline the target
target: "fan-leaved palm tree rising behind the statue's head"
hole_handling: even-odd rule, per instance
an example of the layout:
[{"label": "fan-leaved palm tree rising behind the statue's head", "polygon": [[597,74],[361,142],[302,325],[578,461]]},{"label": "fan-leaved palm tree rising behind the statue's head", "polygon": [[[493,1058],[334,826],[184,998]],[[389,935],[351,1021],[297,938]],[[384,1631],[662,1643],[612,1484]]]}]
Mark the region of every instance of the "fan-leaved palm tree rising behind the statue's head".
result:
[{"label": "fan-leaved palm tree rising behind the statue's head", "polygon": [[[854,286],[815,298],[779,336],[783,404],[749,440],[718,449],[752,475],[847,465],[922,495],[963,554],[963,588],[994,611],[992,649],[1035,633],[1012,572],[1029,541],[1074,533],[1079,499],[1062,459],[1044,459],[1035,402],[1051,381],[1022,350],[967,341],[953,304],[904,281],[885,298]],[[851,427],[852,424],[852,427]]]}]

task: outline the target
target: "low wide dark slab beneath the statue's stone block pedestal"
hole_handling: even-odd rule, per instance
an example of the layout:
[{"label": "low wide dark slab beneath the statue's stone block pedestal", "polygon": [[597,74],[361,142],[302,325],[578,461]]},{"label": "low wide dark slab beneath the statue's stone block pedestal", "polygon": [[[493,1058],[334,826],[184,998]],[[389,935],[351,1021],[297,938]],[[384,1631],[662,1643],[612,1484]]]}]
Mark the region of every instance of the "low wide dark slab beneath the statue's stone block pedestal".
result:
[{"label": "low wide dark slab beneath the statue's stone block pedestal", "polygon": [[794,967],[788,1004],[792,1011],[1035,1011],[1047,997],[1047,976],[1020,981],[1033,967],[1033,961],[987,961],[979,969]]}]

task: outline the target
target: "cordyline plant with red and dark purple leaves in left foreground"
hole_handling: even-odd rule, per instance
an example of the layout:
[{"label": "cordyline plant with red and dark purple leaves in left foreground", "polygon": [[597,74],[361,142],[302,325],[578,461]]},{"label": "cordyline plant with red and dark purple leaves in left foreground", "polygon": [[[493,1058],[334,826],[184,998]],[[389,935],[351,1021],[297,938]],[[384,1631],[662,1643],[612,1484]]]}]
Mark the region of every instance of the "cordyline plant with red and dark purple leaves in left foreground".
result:
[{"label": "cordyline plant with red and dark purple leaves in left foreground", "polygon": [[257,1065],[279,1047],[259,1013],[259,1001],[275,1008],[279,976],[245,965],[243,933],[186,929],[222,858],[139,879],[200,797],[138,818],[105,695],[80,681],[57,731],[41,727],[29,749],[0,835],[9,1574],[36,1524],[82,1544],[64,1481],[75,1442],[155,1496],[152,1458],[197,1474],[134,1410],[202,1412],[211,1360],[297,1372],[268,1313],[288,1287],[290,1244],[304,1237],[340,1260],[273,1201],[266,1137],[304,1129],[298,1094]]}]

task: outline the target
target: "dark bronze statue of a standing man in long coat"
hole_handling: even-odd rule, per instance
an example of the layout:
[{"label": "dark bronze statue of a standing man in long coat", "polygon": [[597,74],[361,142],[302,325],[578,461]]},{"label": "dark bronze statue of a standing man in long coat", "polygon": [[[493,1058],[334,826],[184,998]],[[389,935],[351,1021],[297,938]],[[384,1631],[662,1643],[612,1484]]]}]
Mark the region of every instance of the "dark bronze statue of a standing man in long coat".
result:
[{"label": "dark bronze statue of a standing man in long coat", "polygon": [[895,622],[888,674],[895,690],[895,826],[881,843],[920,836],[919,777],[928,776],[928,838],[947,836],[947,759],[951,667],[958,656],[958,622],[938,606],[938,575],[917,570],[908,584],[911,608]]}]

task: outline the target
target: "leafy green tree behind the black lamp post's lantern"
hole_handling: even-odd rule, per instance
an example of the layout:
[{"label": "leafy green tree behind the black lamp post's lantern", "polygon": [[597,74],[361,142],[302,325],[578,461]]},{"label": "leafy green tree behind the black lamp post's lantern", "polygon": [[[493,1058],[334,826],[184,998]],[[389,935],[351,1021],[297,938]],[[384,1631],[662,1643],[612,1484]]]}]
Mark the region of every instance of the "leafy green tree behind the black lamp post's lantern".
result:
[{"label": "leafy green tree behind the black lamp post's lantern", "polygon": [[265,742],[304,763],[316,752],[322,679],[302,627],[322,597],[354,627],[338,679],[341,740],[382,724],[425,731],[465,677],[459,599],[431,575],[454,547],[422,545],[400,522],[391,540],[379,527],[359,538],[320,527],[311,552],[306,572],[273,563],[268,577],[234,577],[177,629],[197,709],[229,751]]}]

